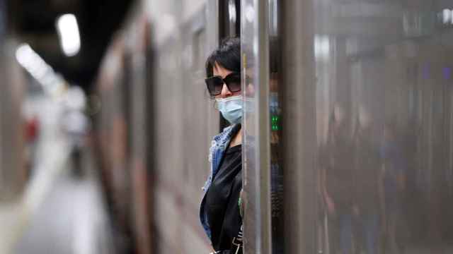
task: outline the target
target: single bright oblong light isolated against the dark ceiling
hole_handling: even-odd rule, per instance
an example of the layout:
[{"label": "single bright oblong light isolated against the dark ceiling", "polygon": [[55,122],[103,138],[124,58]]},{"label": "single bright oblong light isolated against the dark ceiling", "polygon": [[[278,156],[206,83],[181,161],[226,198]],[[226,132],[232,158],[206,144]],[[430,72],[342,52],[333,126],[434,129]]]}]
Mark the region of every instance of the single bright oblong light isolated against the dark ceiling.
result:
[{"label": "single bright oblong light isolated against the dark ceiling", "polygon": [[66,56],[75,56],[80,51],[79,25],[74,14],[64,14],[57,19],[59,42]]}]

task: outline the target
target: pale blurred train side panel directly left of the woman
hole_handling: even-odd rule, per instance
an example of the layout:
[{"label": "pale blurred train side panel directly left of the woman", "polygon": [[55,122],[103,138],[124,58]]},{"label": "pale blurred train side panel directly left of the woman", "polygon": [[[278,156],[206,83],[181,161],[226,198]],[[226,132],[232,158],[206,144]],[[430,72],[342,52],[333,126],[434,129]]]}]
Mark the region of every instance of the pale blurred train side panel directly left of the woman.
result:
[{"label": "pale blurred train side panel directly left of the woman", "polygon": [[[201,187],[210,172],[210,140],[219,130],[219,113],[203,85],[205,59],[219,44],[219,3],[205,1],[182,20],[181,11],[192,8],[194,2],[200,1],[152,4],[162,8],[153,9],[151,20],[167,15],[177,22],[170,32],[158,28],[151,34],[158,38],[163,37],[159,32],[171,35],[166,41],[154,41],[154,76],[149,80],[153,193],[161,204],[154,205],[154,234],[161,253],[209,253],[211,249],[198,209]],[[153,25],[162,25],[159,21]]]}]

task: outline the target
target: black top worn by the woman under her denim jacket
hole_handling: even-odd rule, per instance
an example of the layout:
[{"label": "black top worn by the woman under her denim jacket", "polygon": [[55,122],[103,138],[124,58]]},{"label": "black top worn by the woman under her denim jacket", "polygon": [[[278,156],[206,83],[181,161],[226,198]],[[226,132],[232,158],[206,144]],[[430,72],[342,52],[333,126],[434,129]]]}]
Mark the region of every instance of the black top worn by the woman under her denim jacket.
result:
[{"label": "black top worn by the woman under her denim jacket", "polygon": [[207,220],[215,250],[232,250],[233,238],[238,236],[241,228],[238,205],[242,188],[241,171],[241,145],[229,147],[206,194]]}]

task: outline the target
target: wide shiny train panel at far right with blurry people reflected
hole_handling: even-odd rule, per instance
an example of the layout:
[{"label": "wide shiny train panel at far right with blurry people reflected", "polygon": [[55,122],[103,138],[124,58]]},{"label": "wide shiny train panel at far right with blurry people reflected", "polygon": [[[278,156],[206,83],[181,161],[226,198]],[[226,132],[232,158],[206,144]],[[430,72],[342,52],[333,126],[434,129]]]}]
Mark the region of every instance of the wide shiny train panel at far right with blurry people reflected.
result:
[{"label": "wide shiny train panel at far right with blurry people reflected", "polygon": [[316,13],[317,250],[449,253],[452,2],[306,2]]}]

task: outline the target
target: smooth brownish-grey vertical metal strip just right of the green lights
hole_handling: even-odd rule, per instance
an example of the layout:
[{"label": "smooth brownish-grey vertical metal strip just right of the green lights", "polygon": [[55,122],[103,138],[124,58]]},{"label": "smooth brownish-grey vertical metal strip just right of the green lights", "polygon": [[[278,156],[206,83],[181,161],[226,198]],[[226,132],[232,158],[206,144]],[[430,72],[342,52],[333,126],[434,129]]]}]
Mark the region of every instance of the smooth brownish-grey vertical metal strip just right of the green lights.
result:
[{"label": "smooth brownish-grey vertical metal strip just right of the green lights", "polygon": [[316,90],[312,1],[282,1],[285,253],[316,253]]}]

